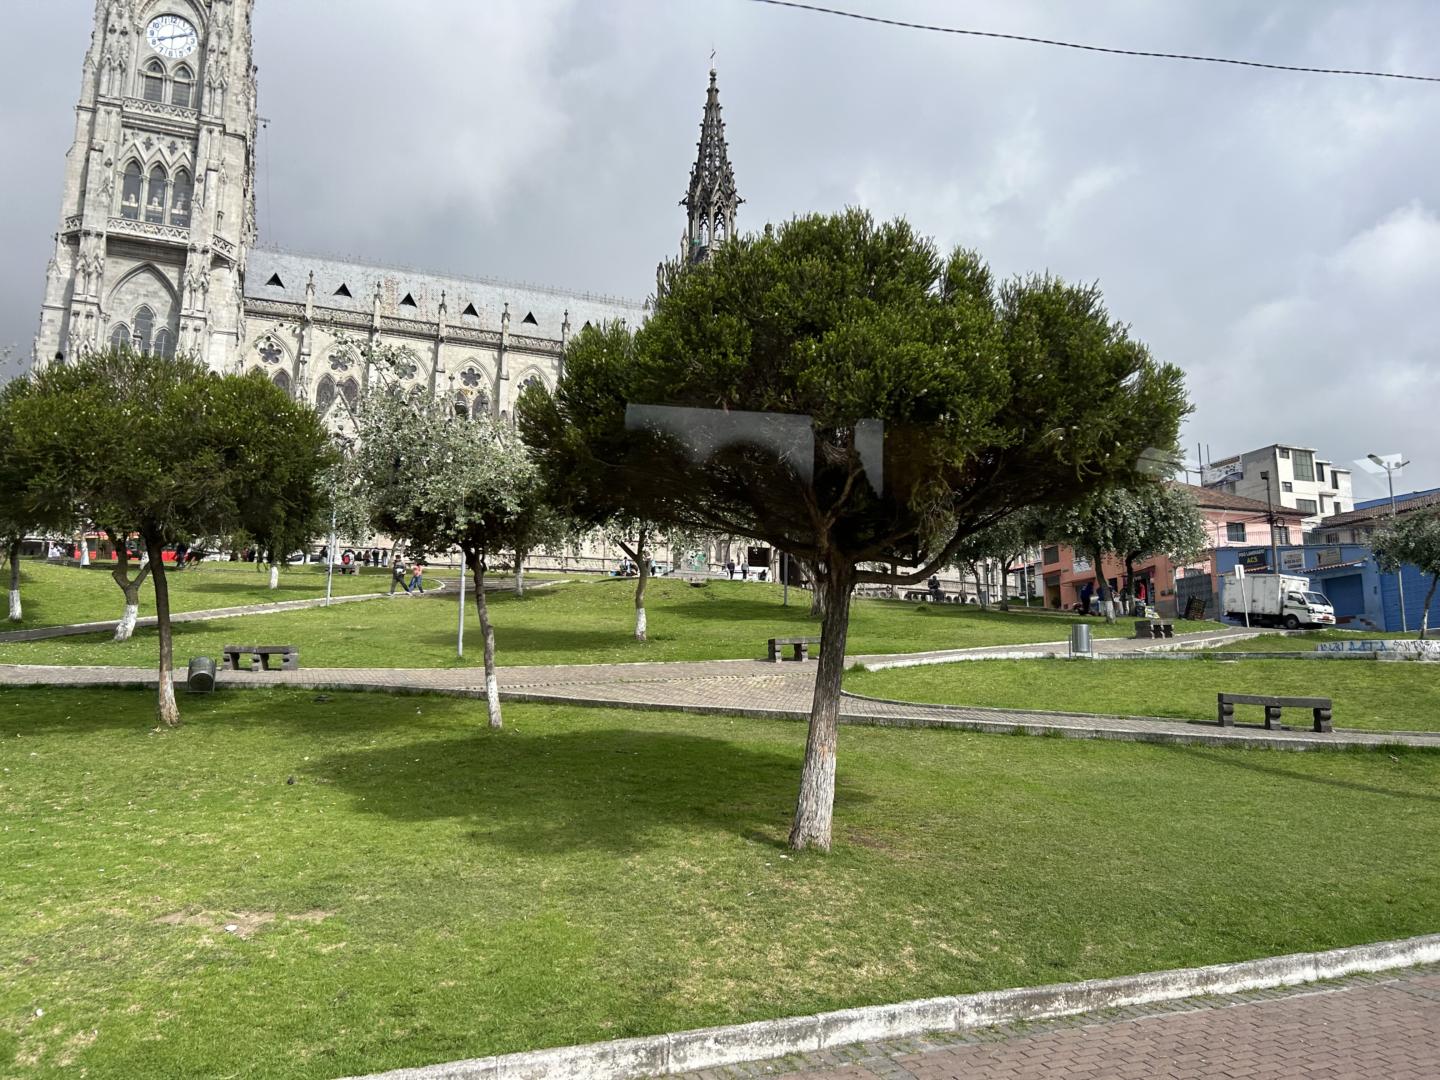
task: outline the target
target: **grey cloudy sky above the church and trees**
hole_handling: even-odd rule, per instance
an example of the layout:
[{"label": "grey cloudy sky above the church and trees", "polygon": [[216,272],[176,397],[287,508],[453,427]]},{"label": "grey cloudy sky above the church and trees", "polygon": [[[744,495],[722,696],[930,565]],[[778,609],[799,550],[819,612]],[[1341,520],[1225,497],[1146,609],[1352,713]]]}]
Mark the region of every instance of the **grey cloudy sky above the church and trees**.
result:
[{"label": "grey cloudy sky above the church and trees", "polygon": [[[1433,0],[835,0],[1122,48],[1440,75]],[[91,0],[4,0],[0,346],[29,353]],[[341,14],[343,12],[343,14]],[[861,204],[1099,281],[1214,458],[1440,485],[1440,84],[1128,59],[750,0],[258,0],[262,242],[642,298],[710,50],[757,229]],[[1103,408],[1103,403],[1102,403]],[[1356,471],[1356,497],[1382,494]]]}]

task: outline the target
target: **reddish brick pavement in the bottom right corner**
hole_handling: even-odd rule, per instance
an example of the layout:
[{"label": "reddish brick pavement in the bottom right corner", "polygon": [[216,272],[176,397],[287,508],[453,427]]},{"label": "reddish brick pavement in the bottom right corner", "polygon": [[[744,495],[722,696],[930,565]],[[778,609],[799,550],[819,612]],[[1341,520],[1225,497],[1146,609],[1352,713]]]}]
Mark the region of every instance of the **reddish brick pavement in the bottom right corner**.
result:
[{"label": "reddish brick pavement in the bottom right corner", "polygon": [[683,1080],[1436,1080],[1440,966],[870,1043]]}]

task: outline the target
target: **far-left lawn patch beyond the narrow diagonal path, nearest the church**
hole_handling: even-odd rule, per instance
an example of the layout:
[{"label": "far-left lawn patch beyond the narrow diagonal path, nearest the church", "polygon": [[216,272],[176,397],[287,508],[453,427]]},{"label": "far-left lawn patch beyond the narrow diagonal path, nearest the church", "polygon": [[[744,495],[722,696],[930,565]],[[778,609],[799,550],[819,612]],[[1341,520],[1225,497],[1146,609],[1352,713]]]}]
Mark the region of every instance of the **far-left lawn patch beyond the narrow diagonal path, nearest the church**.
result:
[{"label": "far-left lawn patch beyond the narrow diagonal path, nearest the church", "polygon": [[[20,599],[24,619],[0,622],[0,631],[60,626],[75,622],[118,619],[125,598],[111,577],[114,564],[89,567],[58,566],[36,559],[20,560]],[[0,580],[9,583],[9,567]],[[134,575],[134,570],[131,570]],[[334,577],[334,595],[351,596],[384,592],[390,588],[389,569],[370,567],[359,575]],[[170,608],[174,612],[240,608],[276,600],[310,600],[325,595],[325,567],[297,564],[281,569],[279,588],[269,589],[269,570],[251,563],[199,563],[180,573],[170,570]],[[140,589],[141,616],[156,613],[156,593],[150,580]]]}]

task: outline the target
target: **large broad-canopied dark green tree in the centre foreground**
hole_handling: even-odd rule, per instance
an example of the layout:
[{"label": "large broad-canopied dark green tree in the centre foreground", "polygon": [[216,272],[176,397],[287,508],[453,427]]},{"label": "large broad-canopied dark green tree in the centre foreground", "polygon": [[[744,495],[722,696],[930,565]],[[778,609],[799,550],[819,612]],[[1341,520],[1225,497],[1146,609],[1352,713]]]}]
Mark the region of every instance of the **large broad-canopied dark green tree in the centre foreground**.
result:
[{"label": "large broad-canopied dark green tree in the centre foreground", "polygon": [[976,255],[942,258],[863,210],[732,240],[670,281],[638,333],[582,331],[556,399],[569,423],[526,418],[527,439],[541,456],[586,439],[612,504],[814,566],[825,602],[789,842],[825,850],[854,586],[922,582],[1024,507],[1142,481],[1188,410],[1179,370],[1099,289],[996,287]]}]

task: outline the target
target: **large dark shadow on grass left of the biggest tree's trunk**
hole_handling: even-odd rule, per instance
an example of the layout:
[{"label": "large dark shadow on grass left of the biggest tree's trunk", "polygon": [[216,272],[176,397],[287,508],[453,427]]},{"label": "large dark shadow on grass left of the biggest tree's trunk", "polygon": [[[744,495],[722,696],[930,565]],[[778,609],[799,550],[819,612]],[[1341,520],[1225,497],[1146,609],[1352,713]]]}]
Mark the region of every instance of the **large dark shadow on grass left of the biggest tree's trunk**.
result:
[{"label": "large dark shadow on grass left of the biggest tree's trunk", "polygon": [[[314,763],[354,809],[461,821],[477,847],[527,855],[634,852],[667,831],[775,842],[789,827],[799,755],[681,732],[487,730],[337,753]],[[842,780],[837,806],[871,796]]]}]

